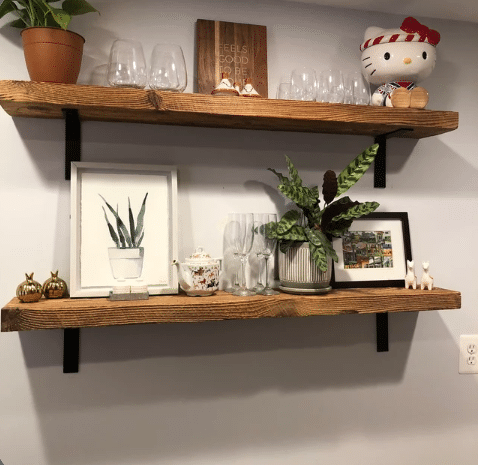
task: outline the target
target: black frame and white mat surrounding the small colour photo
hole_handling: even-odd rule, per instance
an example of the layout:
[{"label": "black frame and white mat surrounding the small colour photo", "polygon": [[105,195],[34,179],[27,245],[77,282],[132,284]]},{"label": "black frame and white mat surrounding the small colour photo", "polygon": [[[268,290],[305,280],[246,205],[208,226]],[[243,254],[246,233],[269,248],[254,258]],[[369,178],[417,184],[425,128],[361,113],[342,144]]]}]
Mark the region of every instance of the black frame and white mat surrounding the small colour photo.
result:
[{"label": "black frame and white mat surrounding the small colour photo", "polygon": [[[333,270],[332,270],[332,280],[331,285],[334,289],[345,289],[345,288],[366,288],[366,287],[404,287],[405,286],[405,275],[406,275],[406,262],[407,260],[412,260],[412,247],[410,241],[410,225],[408,221],[408,213],[407,212],[374,212],[366,215],[362,218],[358,218],[352,224],[350,231],[355,231],[354,227],[358,226],[365,222],[365,225],[370,222],[372,225],[379,225],[384,223],[388,225],[389,222],[391,225],[395,226],[397,230],[396,233],[396,244],[392,244],[392,249],[397,245],[401,252],[399,252],[399,256],[393,259],[393,265],[395,267],[395,260],[399,263],[395,272],[390,273],[390,269],[388,272],[385,272],[385,276],[380,279],[378,277],[373,277],[373,279],[365,279],[365,276],[368,275],[368,271],[359,272],[357,270],[346,270],[343,268],[343,257],[340,257],[339,254],[339,244],[342,243],[342,238],[335,238],[333,241],[334,248],[337,250],[337,255],[339,255],[339,263],[333,263]],[[398,223],[397,223],[398,222]],[[362,231],[364,231],[362,229]],[[367,230],[368,231],[368,230]],[[392,237],[393,240],[393,237]],[[399,244],[398,241],[402,241]],[[402,247],[403,246],[403,247]],[[343,251],[341,248],[340,251]],[[393,257],[392,257],[393,258]],[[341,268],[342,267],[342,268]],[[392,267],[392,269],[394,268]],[[364,270],[362,268],[362,270]],[[376,272],[376,275],[381,275],[381,272]],[[391,276],[389,276],[389,274]],[[373,274],[372,274],[373,276]],[[358,277],[358,279],[357,279]]]}]

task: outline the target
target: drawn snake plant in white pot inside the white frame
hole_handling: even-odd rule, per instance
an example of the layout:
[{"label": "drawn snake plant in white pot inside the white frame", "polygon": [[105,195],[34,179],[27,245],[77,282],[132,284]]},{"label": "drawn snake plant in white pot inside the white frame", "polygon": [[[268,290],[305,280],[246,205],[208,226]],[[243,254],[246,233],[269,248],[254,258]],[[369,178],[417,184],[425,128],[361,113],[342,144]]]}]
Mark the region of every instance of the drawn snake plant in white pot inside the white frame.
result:
[{"label": "drawn snake plant in white pot inside the white frame", "polygon": [[145,204],[147,201],[148,192],[145,194],[140,211],[137,215],[137,222],[133,217],[132,208],[130,206],[130,198],[128,199],[128,225],[129,228],[122,221],[118,214],[118,207],[115,210],[101,195],[110,213],[115,219],[116,228],[110,223],[105,207],[103,213],[105,221],[107,222],[110,237],[115,243],[115,247],[108,248],[108,257],[110,260],[110,267],[115,279],[133,279],[139,278],[143,269],[144,249],[140,247],[144,231],[144,217]]}]

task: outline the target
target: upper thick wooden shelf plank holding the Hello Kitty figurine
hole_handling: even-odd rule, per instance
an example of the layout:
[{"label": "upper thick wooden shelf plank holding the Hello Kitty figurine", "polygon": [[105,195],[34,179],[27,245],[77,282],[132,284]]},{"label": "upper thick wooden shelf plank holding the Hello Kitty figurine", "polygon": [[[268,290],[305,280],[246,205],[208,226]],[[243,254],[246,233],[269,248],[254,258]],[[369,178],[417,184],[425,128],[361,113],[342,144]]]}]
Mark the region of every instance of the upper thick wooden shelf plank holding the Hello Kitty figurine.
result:
[{"label": "upper thick wooden shelf plank holding the Hello Kitty figurine", "polygon": [[458,113],[319,102],[0,81],[0,105],[11,116],[63,118],[77,109],[83,121],[121,121],[272,131],[378,136],[399,129],[420,139],[453,131]]}]

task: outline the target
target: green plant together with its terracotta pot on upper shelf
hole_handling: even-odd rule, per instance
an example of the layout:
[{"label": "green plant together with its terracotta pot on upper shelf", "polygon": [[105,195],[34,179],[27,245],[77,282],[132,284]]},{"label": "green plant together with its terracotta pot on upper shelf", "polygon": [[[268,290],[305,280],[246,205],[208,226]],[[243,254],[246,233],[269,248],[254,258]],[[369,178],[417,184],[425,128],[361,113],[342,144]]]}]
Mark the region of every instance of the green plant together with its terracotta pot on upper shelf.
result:
[{"label": "green plant together with its terracotta pot on upper shelf", "polygon": [[77,82],[85,43],[67,27],[73,16],[91,12],[97,10],[86,0],[3,0],[0,4],[0,18],[8,13],[17,16],[10,25],[22,29],[30,79],[65,84]]}]

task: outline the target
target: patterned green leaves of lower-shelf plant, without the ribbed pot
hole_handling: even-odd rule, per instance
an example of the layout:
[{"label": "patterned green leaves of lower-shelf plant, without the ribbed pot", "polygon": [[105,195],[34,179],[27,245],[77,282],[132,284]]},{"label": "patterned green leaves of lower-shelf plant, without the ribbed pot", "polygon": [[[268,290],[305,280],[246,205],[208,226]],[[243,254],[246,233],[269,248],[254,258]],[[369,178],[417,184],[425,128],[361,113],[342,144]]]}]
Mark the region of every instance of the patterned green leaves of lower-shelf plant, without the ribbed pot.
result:
[{"label": "patterned green leaves of lower-shelf plant, without the ribbed pot", "polygon": [[[321,271],[327,271],[329,258],[338,262],[332,238],[341,237],[355,218],[368,215],[379,206],[377,202],[360,203],[348,196],[340,197],[364,175],[377,150],[378,144],[368,147],[338,176],[332,170],[324,174],[323,205],[318,186],[304,186],[287,156],[288,177],[268,168],[280,180],[278,190],[297,206],[297,209],[285,213],[279,222],[269,224],[269,235],[277,239],[281,252],[286,253],[291,247],[308,243],[311,258]],[[334,200],[337,197],[340,198]]]}]

